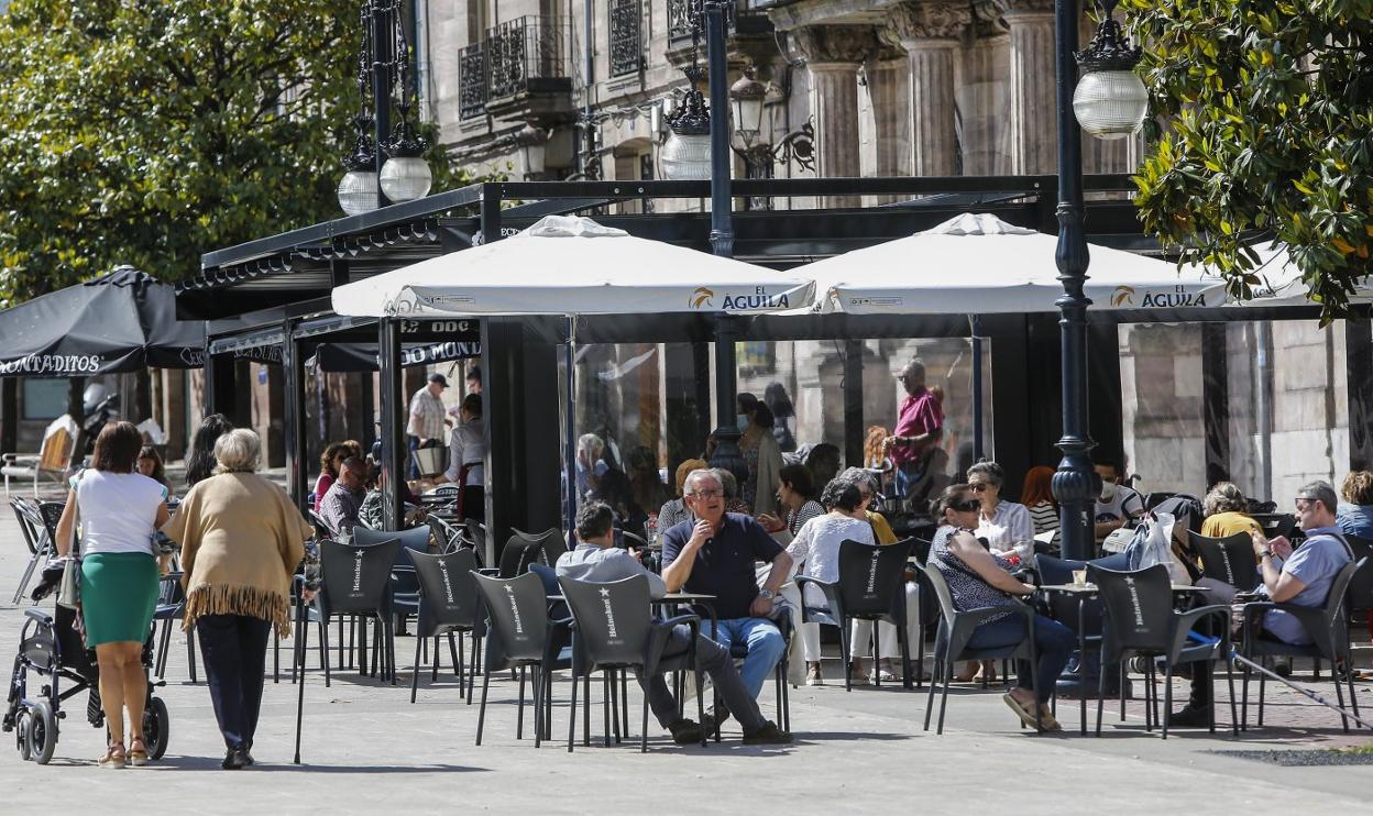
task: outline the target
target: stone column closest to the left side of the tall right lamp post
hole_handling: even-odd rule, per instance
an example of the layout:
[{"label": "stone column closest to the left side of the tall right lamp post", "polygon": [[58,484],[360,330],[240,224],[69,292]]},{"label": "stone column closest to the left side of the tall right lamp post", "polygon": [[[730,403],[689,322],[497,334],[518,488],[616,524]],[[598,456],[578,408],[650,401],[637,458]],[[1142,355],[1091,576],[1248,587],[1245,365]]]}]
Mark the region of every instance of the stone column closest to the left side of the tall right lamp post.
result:
[{"label": "stone column closest to the left side of the tall right lamp post", "polygon": [[1004,1],[1011,26],[1011,173],[1054,173],[1054,0]]}]

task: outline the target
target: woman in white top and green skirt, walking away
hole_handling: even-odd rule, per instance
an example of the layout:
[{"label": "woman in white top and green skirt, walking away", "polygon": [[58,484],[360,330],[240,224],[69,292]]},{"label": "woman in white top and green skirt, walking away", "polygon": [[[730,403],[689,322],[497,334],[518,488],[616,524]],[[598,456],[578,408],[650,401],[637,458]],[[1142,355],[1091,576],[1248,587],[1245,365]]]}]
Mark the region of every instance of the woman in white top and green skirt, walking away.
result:
[{"label": "woman in white top and green skirt, walking away", "polygon": [[110,727],[102,768],[148,761],[143,739],[148,679],[141,656],[158,602],[152,535],[168,520],[168,490],[135,472],[141,447],[143,437],[130,422],[107,424],[95,440],[91,468],[71,479],[58,523],[58,554],[66,557],[80,516],[81,617],[86,646],[95,649],[100,665],[100,704]]}]

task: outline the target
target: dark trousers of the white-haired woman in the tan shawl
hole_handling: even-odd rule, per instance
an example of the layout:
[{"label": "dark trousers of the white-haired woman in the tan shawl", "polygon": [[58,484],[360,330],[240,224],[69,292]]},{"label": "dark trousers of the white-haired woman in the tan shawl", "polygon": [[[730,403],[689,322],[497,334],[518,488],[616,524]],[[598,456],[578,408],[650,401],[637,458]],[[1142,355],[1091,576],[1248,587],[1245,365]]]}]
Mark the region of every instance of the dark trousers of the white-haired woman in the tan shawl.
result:
[{"label": "dark trousers of the white-haired woman in the tan shawl", "polygon": [[227,747],[249,747],[262,706],[262,671],[272,624],[246,614],[206,614],[195,621],[214,719]]}]

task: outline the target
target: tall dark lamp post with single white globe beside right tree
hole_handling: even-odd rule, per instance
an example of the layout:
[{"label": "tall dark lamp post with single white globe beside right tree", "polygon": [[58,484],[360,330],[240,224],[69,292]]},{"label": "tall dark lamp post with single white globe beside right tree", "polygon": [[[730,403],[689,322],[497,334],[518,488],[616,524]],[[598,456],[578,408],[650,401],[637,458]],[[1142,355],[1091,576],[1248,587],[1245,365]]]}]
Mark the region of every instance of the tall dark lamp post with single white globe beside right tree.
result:
[{"label": "tall dark lamp post with single white globe beside right tree", "polygon": [[[1082,229],[1082,129],[1103,139],[1134,133],[1144,122],[1148,93],[1133,69],[1140,49],[1131,48],[1120,23],[1111,16],[1115,0],[1103,0],[1097,36],[1082,52],[1078,44],[1078,4],[1056,0],[1057,118],[1059,118],[1059,280],[1057,306],[1063,346],[1063,461],[1053,476],[1059,501],[1064,558],[1087,560],[1096,550],[1093,528],[1101,479],[1092,468],[1096,443],[1087,428],[1087,240]],[[1078,67],[1083,75],[1078,81]]]}]

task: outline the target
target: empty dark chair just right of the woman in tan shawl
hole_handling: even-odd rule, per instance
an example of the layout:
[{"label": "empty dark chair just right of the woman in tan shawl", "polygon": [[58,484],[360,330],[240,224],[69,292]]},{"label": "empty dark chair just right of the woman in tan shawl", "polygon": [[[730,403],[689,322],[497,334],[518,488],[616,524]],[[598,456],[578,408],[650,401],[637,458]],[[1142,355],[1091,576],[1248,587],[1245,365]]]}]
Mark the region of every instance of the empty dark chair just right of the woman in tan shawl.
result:
[{"label": "empty dark chair just right of the woman in tan shawl", "polygon": [[[350,614],[358,621],[375,620],[379,625],[373,638],[373,672],[378,656],[382,676],[395,683],[395,639],[391,632],[391,566],[401,551],[401,540],[391,538],[376,544],[343,544],[320,542],[320,592],[314,597],[320,614],[320,638],[325,653],[330,650],[330,620],[335,614]],[[360,643],[367,642],[365,628]],[[358,671],[365,673],[365,660]],[[324,684],[330,686],[328,661],[324,662]]]}]

